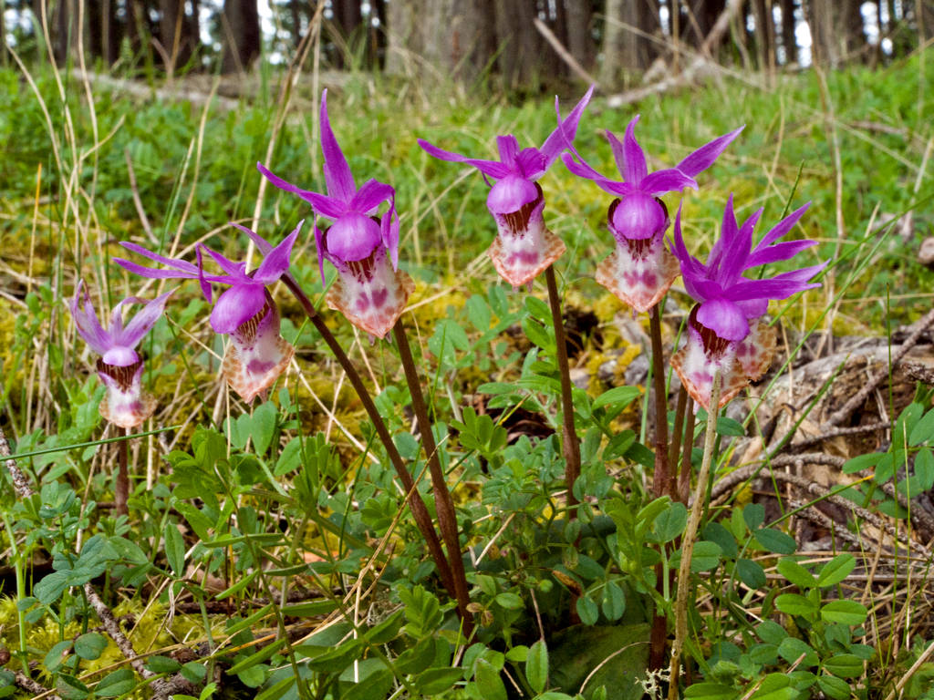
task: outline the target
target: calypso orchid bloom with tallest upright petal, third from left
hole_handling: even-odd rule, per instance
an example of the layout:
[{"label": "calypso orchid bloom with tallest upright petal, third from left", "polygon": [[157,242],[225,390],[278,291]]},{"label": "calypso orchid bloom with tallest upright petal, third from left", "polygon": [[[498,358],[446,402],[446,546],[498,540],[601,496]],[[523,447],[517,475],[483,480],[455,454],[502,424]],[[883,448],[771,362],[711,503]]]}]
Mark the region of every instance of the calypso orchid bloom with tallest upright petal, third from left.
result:
[{"label": "calypso orchid bloom with tallest upright petal, third from left", "polygon": [[[324,281],[324,260],[337,269],[337,281],[326,301],[352,324],[383,338],[405,308],[415,289],[412,279],[399,270],[399,217],[395,189],[375,179],[360,189],[350,173],[344,152],[337,144],[328,119],[328,91],[321,95],[321,150],[328,194],[301,189],[273,175],[262,163],[257,168],[279,189],[297,194],[310,203],[316,217],[331,219],[330,227],[315,223],[318,267]],[[388,210],[376,213],[383,203]]]}]

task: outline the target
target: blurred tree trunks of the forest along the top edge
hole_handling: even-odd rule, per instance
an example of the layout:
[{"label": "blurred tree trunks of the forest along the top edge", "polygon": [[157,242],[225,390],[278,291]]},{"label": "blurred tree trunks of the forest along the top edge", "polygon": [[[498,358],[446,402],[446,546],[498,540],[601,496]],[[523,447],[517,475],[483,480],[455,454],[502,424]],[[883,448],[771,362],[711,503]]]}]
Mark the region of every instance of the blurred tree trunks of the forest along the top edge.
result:
[{"label": "blurred tree trunks of the forest along the top edge", "polygon": [[[604,91],[700,63],[793,69],[876,65],[934,35],[931,0],[0,0],[21,58],[77,55],[127,76],[290,63],[322,20],[333,68],[489,80],[522,92],[556,80]],[[44,20],[44,21],[43,21]],[[47,30],[43,31],[42,27]],[[7,49],[2,60],[10,61]]]}]

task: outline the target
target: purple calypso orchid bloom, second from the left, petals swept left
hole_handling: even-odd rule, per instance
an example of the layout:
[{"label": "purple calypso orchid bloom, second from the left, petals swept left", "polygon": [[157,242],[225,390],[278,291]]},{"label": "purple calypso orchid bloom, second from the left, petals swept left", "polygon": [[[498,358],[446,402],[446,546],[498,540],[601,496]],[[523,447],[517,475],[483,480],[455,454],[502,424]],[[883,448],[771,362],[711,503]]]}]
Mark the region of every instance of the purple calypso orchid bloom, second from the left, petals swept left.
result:
[{"label": "purple calypso orchid bloom, second from the left, petals swept left", "polygon": [[[165,258],[131,243],[121,245],[169,269],[144,267],[124,259],[116,261],[129,272],[144,277],[197,279],[207,301],[212,301],[211,282],[230,286],[214,304],[210,322],[216,332],[231,338],[224,353],[221,373],[231,388],[249,402],[273,385],[295,354],[295,348],[279,334],[281,319],[278,307],[266,287],[289,273],[292,246],[303,223],[300,221],[295,230],[275,247],[259,234],[233,224],[246,232],[265,256],[260,267],[250,273],[247,273],[246,262],[234,262],[206,245],[198,247],[197,265],[186,260]],[[203,251],[217,262],[223,274],[205,274]]]}]

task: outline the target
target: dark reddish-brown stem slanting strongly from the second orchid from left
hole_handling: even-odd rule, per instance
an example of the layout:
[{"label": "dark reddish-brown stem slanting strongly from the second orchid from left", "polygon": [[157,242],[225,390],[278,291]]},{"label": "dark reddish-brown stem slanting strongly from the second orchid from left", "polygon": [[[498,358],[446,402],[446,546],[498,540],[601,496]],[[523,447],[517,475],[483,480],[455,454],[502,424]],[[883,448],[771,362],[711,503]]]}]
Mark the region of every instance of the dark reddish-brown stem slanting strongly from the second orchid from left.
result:
[{"label": "dark reddish-brown stem slanting strongly from the second orchid from left", "polygon": [[438,539],[438,533],[434,529],[432,516],[425,506],[425,501],[423,501],[418,494],[415,488],[415,481],[412,479],[412,475],[409,473],[408,469],[405,468],[402,455],[400,455],[399,450],[396,449],[396,445],[392,441],[392,436],[389,435],[389,429],[386,427],[385,421],[383,421],[383,416],[379,414],[373,399],[370,398],[370,392],[367,390],[366,385],[363,384],[360,373],[353,366],[353,363],[350,362],[350,358],[347,357],[344,348],[342,348],[340,343],[337,342],[337,339],[334,338],[331,329],[328,328],[324,320],[318,315],[318,312],[315,311],[315,305],[308,299],[302,287],[299,287],[298,283],[296,283],[290,275],[285,275],[282,281],[285,283],[286,287],[289,287],[289,291],[295,299],[302,304],[302,308],[304,309],[305,315],[308,316],[308,320],[318,329],[321,337],[324,338],[324,342],[328,343],[328,347],[331,348],[334,357],[337,358],[337,361],[347,373],[347,379],[350,380],[350,385],[353,386],[354,390],[357,392],[357,396],[360,397],[363,409],[370,417],[370,422],[373,423],[373,427],[375,427],[376,435],[379,436],[379,440],[382,441],[383,446],[386,448],[389,461],[392,462],[392,466],[396,469],[396,474],[399,476],[399,481],[403,483],[405,493],[408,494],[409,508],[412,511],[412,517],[415,518],[418,530],[421,532],[422,537],[425,538],[429,553],[432,554],[432,559],[434,560],[434,566],[438,569],[438,575],[441,576],[441,581],[445,584],[447,592],[457,599],[457,589],[454,585],[454,577],[451,575],[451,567],[448,565],[444,550],[441,548],[441,540]]}]

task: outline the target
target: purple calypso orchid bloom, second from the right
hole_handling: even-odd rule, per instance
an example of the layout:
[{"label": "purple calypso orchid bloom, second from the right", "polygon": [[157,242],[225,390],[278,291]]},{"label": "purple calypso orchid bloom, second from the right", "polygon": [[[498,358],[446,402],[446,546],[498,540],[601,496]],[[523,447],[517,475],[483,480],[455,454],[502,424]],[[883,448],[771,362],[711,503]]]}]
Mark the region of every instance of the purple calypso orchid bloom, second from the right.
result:
[{"label": "purple calypso orchid bloom, second from the right", "polygon": [[674,168],[649,173],[644,151],[635,137],[638,121],[638,116],[630,121],[622,142],[613,133],[606,133],[622,180],[611,180],[598,173],[570,142],[568,146],[577,161],[570,153],[563,160],[574,175],[593,180],[604,191],[616,195],[607,213],[616,249],[598,266],[596,279],[633,309],[644,312],[661,300],[678,276],[677,262],[662,240],[669,217],[658,197],[688,187],[697,189],[694,176],[713,165],[743,127],[698,148]]}]

